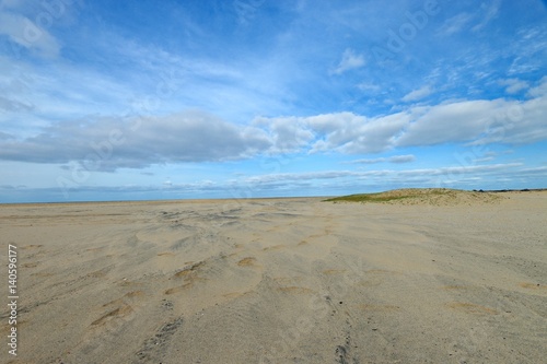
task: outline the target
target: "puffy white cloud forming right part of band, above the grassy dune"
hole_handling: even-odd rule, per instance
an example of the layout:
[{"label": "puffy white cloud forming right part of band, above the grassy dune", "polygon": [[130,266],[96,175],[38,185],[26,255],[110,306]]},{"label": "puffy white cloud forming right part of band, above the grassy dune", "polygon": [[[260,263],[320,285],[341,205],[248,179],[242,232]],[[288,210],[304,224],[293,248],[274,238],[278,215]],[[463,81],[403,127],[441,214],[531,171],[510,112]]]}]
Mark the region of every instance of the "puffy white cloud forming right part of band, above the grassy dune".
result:
[{"label": "puffy white cloud forming right part of band, above the grassy dune", "polygon": [[543,97],[525,102],[457,101],[415,106],[375,118],[352,113],[326,114],[303,118],[302,125],[315,134],[311,152],[377,153],[397,146],[453,142],[533,143],[547,139],[546,84],[547,78],[531,91]]}]

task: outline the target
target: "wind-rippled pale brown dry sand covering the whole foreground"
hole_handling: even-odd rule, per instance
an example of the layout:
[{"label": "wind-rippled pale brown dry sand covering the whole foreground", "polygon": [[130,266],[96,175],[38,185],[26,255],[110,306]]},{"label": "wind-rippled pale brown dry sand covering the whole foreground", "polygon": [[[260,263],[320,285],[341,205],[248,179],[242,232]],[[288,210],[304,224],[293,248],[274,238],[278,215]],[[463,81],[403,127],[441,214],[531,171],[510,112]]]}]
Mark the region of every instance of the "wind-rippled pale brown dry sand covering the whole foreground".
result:
[{"label": "wind-rippled pale brown dry sand covering the whole foreground", "polygon": [[547,192],[500,196],[0,206],[0,362],[545,363]]}]

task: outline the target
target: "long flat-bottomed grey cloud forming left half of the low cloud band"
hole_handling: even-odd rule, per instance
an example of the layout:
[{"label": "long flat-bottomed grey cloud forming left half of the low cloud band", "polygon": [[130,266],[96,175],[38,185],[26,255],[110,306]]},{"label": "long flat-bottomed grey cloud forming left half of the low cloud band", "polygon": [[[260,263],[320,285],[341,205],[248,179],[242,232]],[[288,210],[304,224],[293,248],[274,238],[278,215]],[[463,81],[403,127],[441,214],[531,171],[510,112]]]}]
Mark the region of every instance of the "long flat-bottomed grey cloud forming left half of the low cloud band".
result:
[{"label": "long flat-bottomed grey cloud forming left half of the low cloud band", "polygon": [[256,128],[237,128],[201,111],[167,117],[66,121],[24,140],[0,142],[0,158],[84,163],[88,169],[141,168],[151,164],[225,161],[270,148]]}]

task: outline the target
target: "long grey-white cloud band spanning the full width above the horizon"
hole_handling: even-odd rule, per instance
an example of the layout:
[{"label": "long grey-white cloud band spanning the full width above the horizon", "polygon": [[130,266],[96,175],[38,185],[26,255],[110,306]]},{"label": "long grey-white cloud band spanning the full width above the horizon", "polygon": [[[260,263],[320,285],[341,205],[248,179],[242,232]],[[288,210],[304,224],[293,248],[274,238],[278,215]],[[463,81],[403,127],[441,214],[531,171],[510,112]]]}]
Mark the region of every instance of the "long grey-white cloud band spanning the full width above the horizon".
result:
[{"label": "long grey-white cloud band spanning the full width above the horizon", "polygon": [[[235,125],[193,110],[139,119],[51,124],[28,138],[0,133],[0,160],[85,164],[88,169],[248,158],[287,153],[370,154],[442,143],[524,144],[547,140],[544,82],[527,101],[461,101],[391,115],[353,113],[256,118]],[[374,163],[412,162],[399,155]],[[365,163],[365,162],[363,162]]]}]

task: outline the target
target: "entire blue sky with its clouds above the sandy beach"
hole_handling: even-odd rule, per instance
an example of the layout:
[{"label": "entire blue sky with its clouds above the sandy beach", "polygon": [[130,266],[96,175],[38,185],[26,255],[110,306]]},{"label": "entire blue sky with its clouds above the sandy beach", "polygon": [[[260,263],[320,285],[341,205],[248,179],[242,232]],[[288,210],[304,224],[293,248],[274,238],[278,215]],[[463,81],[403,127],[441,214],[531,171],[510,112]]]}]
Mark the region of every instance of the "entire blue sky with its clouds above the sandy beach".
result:
[{"label": "entire blue sky with its clouds above the sandy beach", "polygon": [[547,187],[547,1],[0,0],[0,202]]}]

